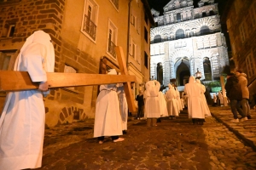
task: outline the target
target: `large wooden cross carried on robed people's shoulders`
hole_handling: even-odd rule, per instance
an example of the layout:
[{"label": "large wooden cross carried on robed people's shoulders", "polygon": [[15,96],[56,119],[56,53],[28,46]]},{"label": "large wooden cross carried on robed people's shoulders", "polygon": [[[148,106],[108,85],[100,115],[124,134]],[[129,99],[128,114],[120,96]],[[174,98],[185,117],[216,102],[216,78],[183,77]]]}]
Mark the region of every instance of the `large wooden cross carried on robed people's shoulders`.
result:
[{"label": "large wooden cross carried on robed people's shoulders", "polygon": [[[131,82],[137,82],[137,80],[135,76],[128,75],[123,49],[121,47],[116,47],[115,50],[121,75],[48,72],[47,82],[49,82],[49,88],[124,83],[125,96],[129,111],[136,113],[137,109],[134,104]],[[38,83],[32,82],[28,72],[0,71],[0,92],[31,89],[38,89]]]}]

